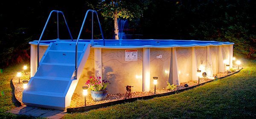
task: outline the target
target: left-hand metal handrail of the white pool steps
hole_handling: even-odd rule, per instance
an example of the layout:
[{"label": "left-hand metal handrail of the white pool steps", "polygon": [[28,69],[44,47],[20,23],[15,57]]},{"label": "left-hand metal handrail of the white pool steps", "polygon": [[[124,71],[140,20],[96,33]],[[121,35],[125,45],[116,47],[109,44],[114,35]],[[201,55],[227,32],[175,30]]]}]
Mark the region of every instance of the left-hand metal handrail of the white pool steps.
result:
[{"label": "left-hand metal handrail of the white pool steps", "polygon": [[[47,21],[46,21],[46,23],[45,23],[45,25],[44,25],[44,29],[43,29],[43,31],[42,31],[42,33],[41,33],[41,36],[40,36],[39,40],[38,40],[38,57],[37,57],[37,59],[38,59],[38,61],[37,61],[38,66],[37,66],[37,69],[39,68],[39,44],[40,44],[40,41],[41,41],[41,39],[42,39],[42,37],[43,37],[45,28],[46,28],[46,26],[47,26],[47,24],[48,24],[48,22],[49,22],[49,19],[50,19],[50,17],[51,17],[51,15],[52,15],[53,12],[56,12],[56,13],[57,13],[57,37],[58,37],[57,40],[59,40],[58,13],[61,13],[61,14],[62,14],[62,16],[63,16],[63,18],[64,18],[64,21],[65,21],[65,23],[66,23],[66,26],[67,26],[67,21],[66,21],[66,18],[65,18],[65,16],[64,16],[64,13],[63,13],[62,11],[52,10],[52,11],[50,12],[49,17],[48,17],[48,19],[47,19]],[[69,34],[70,34],[71,40],[73,41],[73,37],[72,37],[72,35],[71,35],[70,29],[69,29],[68,26],[67,26],[67,30],[68,30],[68,32],[69,32]]]}]

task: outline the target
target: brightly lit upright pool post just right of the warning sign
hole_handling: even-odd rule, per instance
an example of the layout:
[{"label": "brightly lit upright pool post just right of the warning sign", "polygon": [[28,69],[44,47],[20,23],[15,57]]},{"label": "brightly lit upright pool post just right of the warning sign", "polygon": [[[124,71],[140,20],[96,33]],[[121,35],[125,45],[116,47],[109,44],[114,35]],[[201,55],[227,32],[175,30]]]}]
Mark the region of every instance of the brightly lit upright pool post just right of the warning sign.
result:
[{"label": "brightly lit upright pool post just right of the warning sign", "polygon": [[150,91],[150,48],[143,48],[143,86],[144,92]]}]

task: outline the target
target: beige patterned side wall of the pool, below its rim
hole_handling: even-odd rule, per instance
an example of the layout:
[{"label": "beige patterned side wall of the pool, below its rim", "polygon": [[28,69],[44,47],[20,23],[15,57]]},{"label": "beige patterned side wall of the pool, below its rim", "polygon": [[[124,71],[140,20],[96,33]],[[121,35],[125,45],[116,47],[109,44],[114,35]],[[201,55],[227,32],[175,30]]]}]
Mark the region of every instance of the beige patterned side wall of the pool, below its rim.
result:
[{"label": "beige patterned side wall of the pool, below its rim", "polygon": [[[40,46],[40,59],[47,47]],[[137,61],[125,61],[125,48],[91,47],[75,93],[81,93],[82,85],[93,75],[109,79],[109,94],[117,94],[125,93],[126,85],[134,86],[132,92],[149,91],[154,88],[152,77],[159,77],[157,88],[165,88],[166,82],[179,85],[198,80],[198,68],[212,75],[226,71],[224,59],[227,59],[230,67],[233,64],[233,45],[132,49],[138,50]],[[37,45],[31,44],[30,63],[33,77],[37,68]]]}]

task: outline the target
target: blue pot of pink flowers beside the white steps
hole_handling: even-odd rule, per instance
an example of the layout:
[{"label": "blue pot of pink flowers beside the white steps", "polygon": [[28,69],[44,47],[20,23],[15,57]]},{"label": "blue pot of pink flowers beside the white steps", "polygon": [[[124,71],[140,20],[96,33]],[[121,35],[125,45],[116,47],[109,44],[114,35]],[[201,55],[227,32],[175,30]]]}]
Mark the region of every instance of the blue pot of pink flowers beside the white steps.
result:
[{"label": "blue pot of pink flowers beside the white steps", "polygon": [[110,84],[108,80],[102,80],[101,77],[90,77],[85,85],[90,89],[91,96],[94,102],[105,100],[108,89],[107,86]]}]

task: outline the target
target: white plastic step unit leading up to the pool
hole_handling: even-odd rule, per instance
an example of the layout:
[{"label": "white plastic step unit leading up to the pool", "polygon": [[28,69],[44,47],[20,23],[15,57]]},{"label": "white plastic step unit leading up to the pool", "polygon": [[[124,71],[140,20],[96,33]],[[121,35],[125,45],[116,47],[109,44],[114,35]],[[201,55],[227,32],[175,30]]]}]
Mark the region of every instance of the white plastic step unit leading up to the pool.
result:
[{"label": "white plastic step unit leading up to the pool", "polygon": [[49,44],[38,71],[23,91],[25,105],[66,110],[90,54],[90,42],[78,44],[78,76],[74,79],[76,42],[59,41]]}]

